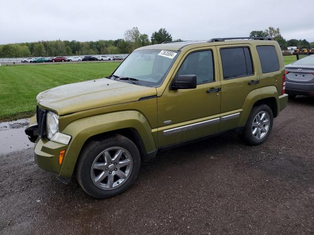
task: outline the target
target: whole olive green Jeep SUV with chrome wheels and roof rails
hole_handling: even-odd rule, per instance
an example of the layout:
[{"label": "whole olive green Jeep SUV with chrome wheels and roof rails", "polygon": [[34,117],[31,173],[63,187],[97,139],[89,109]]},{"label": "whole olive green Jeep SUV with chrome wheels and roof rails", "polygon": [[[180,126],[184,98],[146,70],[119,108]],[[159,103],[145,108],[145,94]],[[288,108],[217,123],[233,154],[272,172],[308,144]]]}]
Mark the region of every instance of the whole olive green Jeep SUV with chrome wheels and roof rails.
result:
[{"label": "whole olive green Jeep SUV with chrome wheels and roof rails", "polygon": [[261,144],[287,101],[270,38],[168,42],[134,50],[109,77],[38,94],[26,134],[39,167],[108,198],[161,149],[228,130]]}]

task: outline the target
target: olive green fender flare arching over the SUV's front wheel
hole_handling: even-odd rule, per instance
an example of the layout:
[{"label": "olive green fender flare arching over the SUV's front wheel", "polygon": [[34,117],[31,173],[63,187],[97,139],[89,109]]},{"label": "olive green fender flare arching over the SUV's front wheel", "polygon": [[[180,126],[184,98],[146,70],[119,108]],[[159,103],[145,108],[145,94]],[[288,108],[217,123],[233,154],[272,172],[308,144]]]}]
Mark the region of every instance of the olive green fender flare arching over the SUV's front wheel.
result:
[{"label": "olive green fender flare arching over the SUV's front wheel", "polygon": [[138,111],[121,111],[78,119],[62,131],[64,134],[71,135],[72,139],[67,147],[59,177],[72,176],[81,148],[89,138],[125,128],[133,128],[138,132],[146,153],[156,150],[152,128],[144,115]]}]

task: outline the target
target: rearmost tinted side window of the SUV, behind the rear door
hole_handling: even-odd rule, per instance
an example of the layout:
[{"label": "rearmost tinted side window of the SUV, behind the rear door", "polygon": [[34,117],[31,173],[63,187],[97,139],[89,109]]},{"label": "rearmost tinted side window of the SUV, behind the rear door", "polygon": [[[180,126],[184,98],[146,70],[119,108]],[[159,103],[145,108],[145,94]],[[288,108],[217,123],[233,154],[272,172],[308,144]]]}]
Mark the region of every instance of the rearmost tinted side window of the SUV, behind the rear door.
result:
[{"label": "rearmost tinted side window of the SUV, behind the rear door", "polygon": [[279,71],[279,61],[274,46],[257,46],[257,52],[259,53],[263,73]]}]

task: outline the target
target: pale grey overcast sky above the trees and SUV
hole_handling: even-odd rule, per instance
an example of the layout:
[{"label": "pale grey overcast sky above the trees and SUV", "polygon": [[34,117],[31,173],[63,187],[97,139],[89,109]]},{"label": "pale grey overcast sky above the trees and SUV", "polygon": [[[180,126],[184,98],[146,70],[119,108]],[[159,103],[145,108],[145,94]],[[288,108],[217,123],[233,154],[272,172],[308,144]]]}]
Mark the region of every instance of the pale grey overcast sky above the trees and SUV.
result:
[{"label": "pale grey overcast sky above the trees and SUV", "polygon": [[314,42],[314,0],[1,0],[0,44],[124,37],[137,26],[173,39],[248,37],[279,27],[285,39]]}]

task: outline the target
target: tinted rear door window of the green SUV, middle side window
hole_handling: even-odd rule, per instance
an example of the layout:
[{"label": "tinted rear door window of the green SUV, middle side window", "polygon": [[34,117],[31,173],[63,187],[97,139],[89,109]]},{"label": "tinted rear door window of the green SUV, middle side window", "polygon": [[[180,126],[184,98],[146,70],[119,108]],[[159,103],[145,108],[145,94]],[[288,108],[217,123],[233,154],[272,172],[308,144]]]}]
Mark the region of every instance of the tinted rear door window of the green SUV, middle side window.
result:
[{"label": "tinted rear door window of the green SUV, middle side window", "polygon": [[253,74],[252,58],[248,47],[220,49],[224,79]]}]

